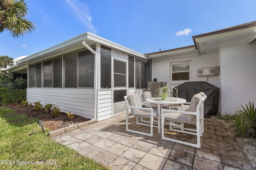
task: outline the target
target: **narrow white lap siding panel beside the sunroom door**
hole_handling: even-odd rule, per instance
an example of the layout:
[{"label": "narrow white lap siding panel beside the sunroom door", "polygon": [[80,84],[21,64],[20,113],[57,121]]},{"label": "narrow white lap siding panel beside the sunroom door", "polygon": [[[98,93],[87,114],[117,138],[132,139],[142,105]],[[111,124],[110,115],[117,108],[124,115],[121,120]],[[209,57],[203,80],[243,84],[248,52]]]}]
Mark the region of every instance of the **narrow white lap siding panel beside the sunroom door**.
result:
[{"label": "narrow white lap siding panel beside the sunroom door", "polygon": [[98,121],[112,117],[112,90],[98,91]]}]

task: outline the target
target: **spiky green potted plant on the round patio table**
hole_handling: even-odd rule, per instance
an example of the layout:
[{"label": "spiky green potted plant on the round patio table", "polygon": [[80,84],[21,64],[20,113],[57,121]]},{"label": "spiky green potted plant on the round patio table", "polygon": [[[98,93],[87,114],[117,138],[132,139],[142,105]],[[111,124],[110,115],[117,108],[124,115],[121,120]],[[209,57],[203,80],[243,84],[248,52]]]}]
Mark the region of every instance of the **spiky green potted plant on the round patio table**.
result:
[{"label": "spiky green potted plant on the round patio table", "polygon": [[[173,92],[175,92],[175,94],[173,94]],[[172,84],[166,84],[166,86],[158,88],[156,90],[155,96],[156,96],[156,98],[161,97],[162,100],[167,100],[168,97],[177,97],[178,90],[176,87],[172,86]]]}]

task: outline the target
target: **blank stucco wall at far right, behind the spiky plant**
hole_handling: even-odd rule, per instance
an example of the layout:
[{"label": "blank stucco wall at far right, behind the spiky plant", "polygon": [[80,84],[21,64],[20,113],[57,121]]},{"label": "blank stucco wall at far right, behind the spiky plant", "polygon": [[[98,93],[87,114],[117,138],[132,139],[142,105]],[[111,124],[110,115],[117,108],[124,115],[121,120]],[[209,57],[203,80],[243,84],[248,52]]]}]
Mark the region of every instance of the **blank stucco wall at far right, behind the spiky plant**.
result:
[{"label": "blank stucco wall at far right, behind the spiky plant", "polygon": [[256,102],[256,42],[246,39],[220,45],[222,115]]}]

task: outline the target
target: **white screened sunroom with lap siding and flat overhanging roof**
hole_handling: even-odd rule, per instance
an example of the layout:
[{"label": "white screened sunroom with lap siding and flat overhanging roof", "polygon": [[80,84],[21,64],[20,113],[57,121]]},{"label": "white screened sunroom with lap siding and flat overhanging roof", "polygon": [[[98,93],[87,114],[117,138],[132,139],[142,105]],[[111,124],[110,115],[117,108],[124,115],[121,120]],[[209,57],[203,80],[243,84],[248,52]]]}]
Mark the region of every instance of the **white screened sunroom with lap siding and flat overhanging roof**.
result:
[{"label": "white screened sunroom with lap siding and flat overhanging roof", "polygon": [[28,102],[98,121],[123,113],[124,96],[147,88],[146,56],[89,32],[16,63],[28,68]]}]

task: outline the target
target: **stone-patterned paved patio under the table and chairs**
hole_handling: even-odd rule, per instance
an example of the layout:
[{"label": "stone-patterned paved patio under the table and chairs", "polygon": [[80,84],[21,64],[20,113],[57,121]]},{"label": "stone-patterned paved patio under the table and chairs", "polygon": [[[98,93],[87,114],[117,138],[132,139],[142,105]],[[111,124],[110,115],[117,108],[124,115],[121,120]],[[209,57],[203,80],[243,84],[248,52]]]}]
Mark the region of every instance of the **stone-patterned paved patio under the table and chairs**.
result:
[{"label": "stone-patterned paved patio under the table and chairs", "polygon": [[[230,127],[214,117],[204,120],[201,149],[162,140],[156,128],[154,137],[127,132],[125,114],[52,139],[113,170],[253,170]],[[149,129],[139,125],[132,128],[146,132]],[[196,141],[196,136],[192,135],[170,135],[184,141]]]}]

